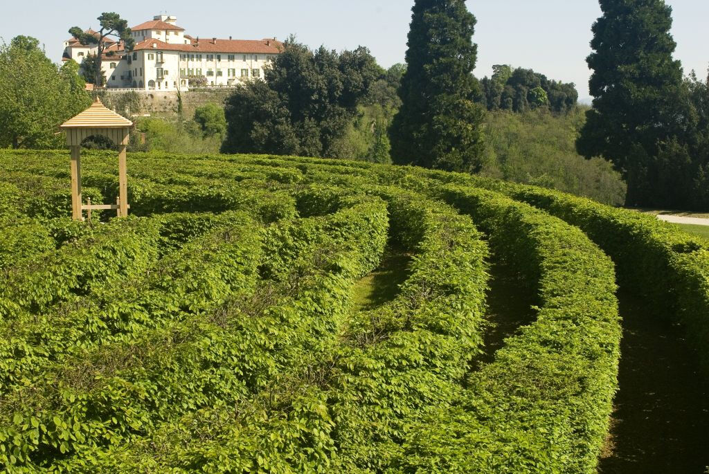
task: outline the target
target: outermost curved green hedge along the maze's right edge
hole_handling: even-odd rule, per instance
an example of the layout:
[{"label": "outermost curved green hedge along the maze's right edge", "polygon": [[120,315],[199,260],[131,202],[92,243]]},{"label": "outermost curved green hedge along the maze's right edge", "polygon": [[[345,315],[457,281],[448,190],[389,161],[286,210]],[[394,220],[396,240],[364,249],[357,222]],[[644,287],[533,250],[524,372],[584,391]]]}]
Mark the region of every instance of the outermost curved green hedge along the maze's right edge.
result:
[{"label": "outermost curved green hedge along the maze's right edge", "polygon": [[620,286],[681,322],[709,374],[709,247],[657,218],[530,186],[508,186],[515,199],[577,225],[608,253]]}]

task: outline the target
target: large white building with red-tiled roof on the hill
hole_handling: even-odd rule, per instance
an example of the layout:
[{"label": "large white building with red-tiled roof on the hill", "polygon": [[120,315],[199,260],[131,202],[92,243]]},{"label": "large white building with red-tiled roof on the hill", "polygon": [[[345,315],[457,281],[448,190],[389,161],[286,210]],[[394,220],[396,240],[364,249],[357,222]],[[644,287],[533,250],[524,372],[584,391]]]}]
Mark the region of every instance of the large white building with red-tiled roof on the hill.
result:
[{"label": "large white building with red-tiled roof on the hill", "polygon": [[[262,78],[264,65],[279,55],[283,43],[275,39],[228,40],[193,38],[184,33],[174,16],[155,16],[131,28],[133,51],[122,43],[107,42],[101,69],[106,86],[157,91],[189,90],[190,86],[235,86]],[[95,33],[89,30],[90,33]],[[98,48],[82,45],[76,38],[64,43],[62,60],[79,64]]]}]

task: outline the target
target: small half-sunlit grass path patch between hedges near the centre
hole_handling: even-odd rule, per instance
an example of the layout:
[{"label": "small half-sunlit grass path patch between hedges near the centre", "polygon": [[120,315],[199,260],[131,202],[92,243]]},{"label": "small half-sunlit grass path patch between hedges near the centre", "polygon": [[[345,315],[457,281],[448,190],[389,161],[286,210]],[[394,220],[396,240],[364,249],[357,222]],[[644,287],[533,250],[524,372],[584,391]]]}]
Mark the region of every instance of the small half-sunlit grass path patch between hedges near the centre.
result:
[{"label": "small half-sunlit grass path patch between hedges near the centre", "polygon": [[356,311],[374,310],[389,303],[399,293],[399,286],[411,274],[408,265],[411,254],[397,247],[388,247],[379,267],[360,279],[352,288],[352,305]]}]

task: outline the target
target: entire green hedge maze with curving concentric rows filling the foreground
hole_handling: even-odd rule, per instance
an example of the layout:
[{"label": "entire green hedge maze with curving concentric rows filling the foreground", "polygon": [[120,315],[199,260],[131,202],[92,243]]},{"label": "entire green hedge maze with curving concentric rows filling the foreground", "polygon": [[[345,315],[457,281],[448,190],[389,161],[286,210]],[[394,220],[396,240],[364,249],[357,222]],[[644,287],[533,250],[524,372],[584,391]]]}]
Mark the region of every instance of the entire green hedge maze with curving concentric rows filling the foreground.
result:
[{"label": "entire green hedge maze with curving concentric rows filling the foreground", "polygon": [[[113,161],[86,154],[92,203]],[[72,222],[66,152],[0,153],[0,470],[590,474],[617,285],[709,363],[709,244],[652,218],[361,162],[128,167],[128,218]],[[408,278],[354,309],[391,248]],[[482,363],[494,262],[536,317]]]}]

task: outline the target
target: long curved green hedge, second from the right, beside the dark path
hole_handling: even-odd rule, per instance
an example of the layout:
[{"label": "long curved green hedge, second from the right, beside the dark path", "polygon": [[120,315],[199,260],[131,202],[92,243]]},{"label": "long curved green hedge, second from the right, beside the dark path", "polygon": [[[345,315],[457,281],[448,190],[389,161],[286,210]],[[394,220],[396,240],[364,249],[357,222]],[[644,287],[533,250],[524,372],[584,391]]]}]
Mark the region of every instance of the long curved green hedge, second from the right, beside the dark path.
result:
[{"label": "long curved green hedge, second from the right, beside the dark path", "polygon": [[507,339],[450,407],[413,430],[398,469],[595,473],[617,388],[620,320],[613,263],[575,227],[490,191],[442,197],[538,282],[537,321]]}]

